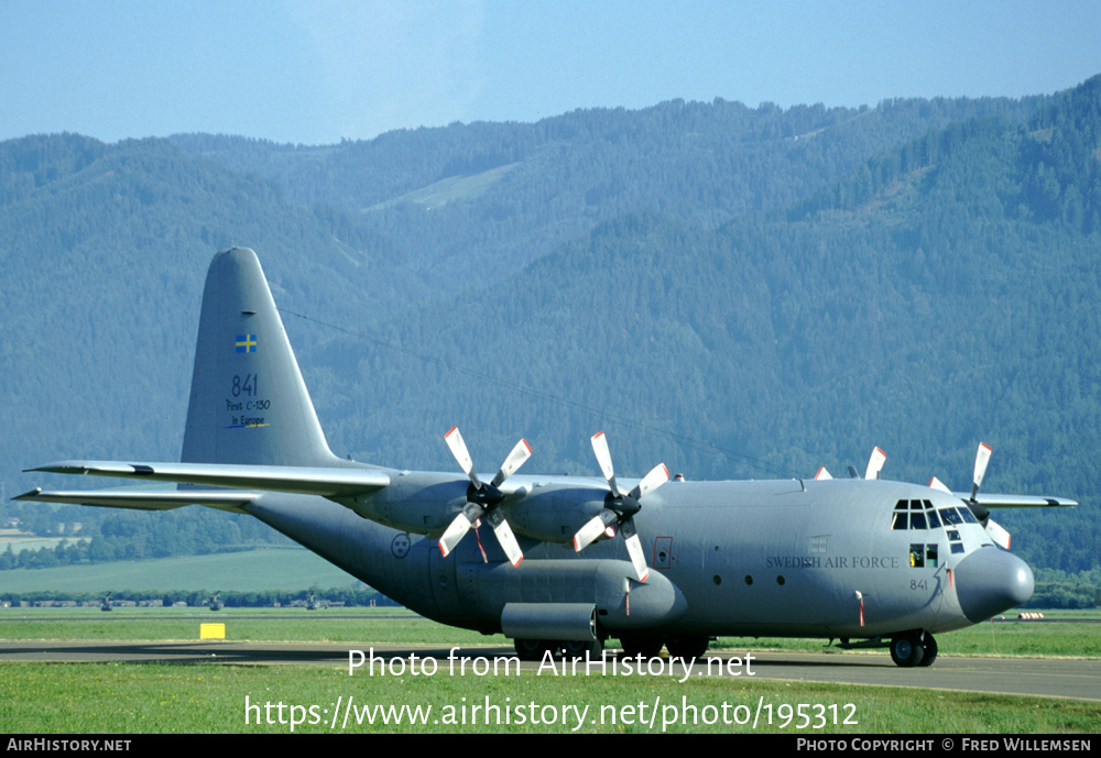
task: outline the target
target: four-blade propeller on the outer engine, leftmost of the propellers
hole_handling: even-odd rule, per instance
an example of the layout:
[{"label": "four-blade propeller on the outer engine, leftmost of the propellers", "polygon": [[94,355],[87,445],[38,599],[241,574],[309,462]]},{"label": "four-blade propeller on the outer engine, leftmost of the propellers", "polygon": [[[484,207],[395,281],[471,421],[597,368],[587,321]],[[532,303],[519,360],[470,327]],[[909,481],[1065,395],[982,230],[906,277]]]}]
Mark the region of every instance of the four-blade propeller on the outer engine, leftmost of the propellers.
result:
[{"label": "four-blade propeller on the outer engine, leftmost of the propellers", "polygon": [[501,464],[497,476],[487,484],[478,479],[478,472],[475,471],[473,461],[467,451],[466,442],[462,441],[459,428],[451,427],[451,430],[444,435],[444,439],[447,441],[451,454],[455,455],[455,460],[458,461],[459,468],[470,477],[470,486],[467,488],[466,507],[455,517],[455,520],[444,531],[444,536],[439,538],[439,554],[446,558],[470,531],[470,528],[477,527],[479,519],[484,516],[487,523],[493,528],[497,541],[500,542],[509,562],[513,565],[520,565],[520,561],[524,560],[524,553],[520,549],[520,543],[516,542],[512,527],[509,526],[509,521],[505,520],[504,514],[498,506],[504,501],[504,493],[501,492],[500,486],[504,484],[506,479],[516,473],[524,461],[532,457],[532,448],[527,444],[527,440],[516,442],[516,447]]}]

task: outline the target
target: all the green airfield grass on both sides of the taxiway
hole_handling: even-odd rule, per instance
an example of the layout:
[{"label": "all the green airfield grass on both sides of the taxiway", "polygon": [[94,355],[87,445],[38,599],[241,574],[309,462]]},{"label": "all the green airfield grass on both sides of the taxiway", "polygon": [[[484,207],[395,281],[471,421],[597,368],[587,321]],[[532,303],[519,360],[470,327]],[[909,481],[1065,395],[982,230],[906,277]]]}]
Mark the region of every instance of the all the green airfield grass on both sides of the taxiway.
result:
[{"label": "all the green airfield grass on both sides of the taxiway", "polygon": [[[1062,615],[1082,617],[1082,612]],[[2,640],[13,639],[194,640],[198,625],[211,620],[225,623],[227,637],[236,640],[331,641],[359,648],[370,642],[508,644],[503,637],[453,629],[402,608],[225,608],[218,613],[119,608],[109,614],[83,608],[7,608],[0,611],[0,647]],[[1101,657],[1095,624],[983,624],[941,635],[938,640],[942,656],[991,648],[1003,656],[1034,656],[1040,647],[1046,648],[1046,655]],[[821,645],[821,640],[742,638],[717,644],[740,651],[781,646],[814,649]],[[487,677],[428,677],[406,671],[383,678],[349,677],[345,666],[4,663],[0,666],[0,692],[6,693],[0,697],[0,726],[10,733],[285,734],[292,718],[297,722],[295,732],[562,733],[577,725],[575,707],[588,707],[579,729],[586,733],[1101,732],[1101,708],[1095,702],[731,678],[694,678],[679,684],[665,679],[556,678],[531,671]],[[342,714],[349,697],[353,710],[345,724]],[[247,703],[252,707],[247,708]],[[284,704],[282,711],[279,703]],[[501,724],[486,726],[478,721],[487,704],[502,708],[495,712]],[[805,705],[802,714],[798,704]],[[405,711],[403,706],[407,706]],[[429,706],[426,723],[410,723],[416,715],[413,708],[421,707],[424,715]],[[672,706],[679,710],[669,711]],[[334,713],[338,714],[336,728]],[[680,713],[689,715],[688,723],[678,721],[663,729],[663,718]],[[753,713],[759,723],[755,728],[723,724],[723,713],[734,722]],[[653,725],[651,716],[655,716]],[[766,716],[771,716],[771,724],[761,721]],[[368,723],[372,718],[374,723]],[[591,723],[593,719],[598,723]],[[806,726],[797,728],[804,722]]]}]

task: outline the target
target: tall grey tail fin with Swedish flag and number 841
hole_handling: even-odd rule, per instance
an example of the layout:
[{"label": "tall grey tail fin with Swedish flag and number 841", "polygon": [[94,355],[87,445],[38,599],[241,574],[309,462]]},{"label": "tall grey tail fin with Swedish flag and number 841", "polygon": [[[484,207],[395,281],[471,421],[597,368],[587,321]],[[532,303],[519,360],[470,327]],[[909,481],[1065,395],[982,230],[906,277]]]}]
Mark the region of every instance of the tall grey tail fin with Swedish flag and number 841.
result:
[{"label": "tall grey tail fin with Swedish flag and number 841", "polygon": [[181,460],[339,465],[248,248],[218,253],[207,273]]}]

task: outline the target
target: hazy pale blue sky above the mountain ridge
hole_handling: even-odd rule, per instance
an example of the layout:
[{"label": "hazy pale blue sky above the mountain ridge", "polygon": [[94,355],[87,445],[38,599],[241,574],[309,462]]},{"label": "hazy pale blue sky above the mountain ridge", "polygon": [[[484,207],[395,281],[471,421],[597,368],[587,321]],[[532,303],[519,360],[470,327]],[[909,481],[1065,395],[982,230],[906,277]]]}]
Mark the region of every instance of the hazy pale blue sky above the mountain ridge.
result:
[{"label": "hazy pale blue sky above the mountain ridge", "polygon": [[1095,0],[0,0],[0,140],[321,144],[673,98],[1020,97],[1095,74]]}]

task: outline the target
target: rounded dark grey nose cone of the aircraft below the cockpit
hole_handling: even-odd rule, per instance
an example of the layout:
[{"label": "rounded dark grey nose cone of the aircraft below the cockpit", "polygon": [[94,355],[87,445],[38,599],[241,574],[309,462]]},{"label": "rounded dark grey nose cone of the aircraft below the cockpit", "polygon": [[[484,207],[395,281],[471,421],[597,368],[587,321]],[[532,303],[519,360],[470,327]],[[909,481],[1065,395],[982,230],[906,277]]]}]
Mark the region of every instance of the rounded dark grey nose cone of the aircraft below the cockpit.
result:
[{"label": "rounded dark grey nose cone of the aircraft below the cockpit", "polygon": [[1028,564],[994,547],[975,550],[955,573],[960,607],[975,624],[1021,605],[1036,589]]}]

